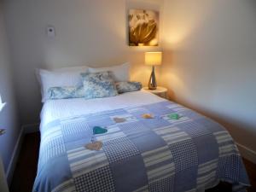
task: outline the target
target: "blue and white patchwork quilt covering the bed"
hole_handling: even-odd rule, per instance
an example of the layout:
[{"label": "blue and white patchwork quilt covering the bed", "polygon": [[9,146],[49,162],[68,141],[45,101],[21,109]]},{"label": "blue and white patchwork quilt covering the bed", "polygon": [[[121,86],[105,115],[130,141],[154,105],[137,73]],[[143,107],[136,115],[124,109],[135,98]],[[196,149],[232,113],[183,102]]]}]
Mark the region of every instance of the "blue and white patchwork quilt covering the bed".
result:
[{"label": "blue and white patchwork quilt covering the bed", "polygon": [[[143,114],[154,115],[144,119]],[[177,113],[180,119],[170,118]],[[116,123],[113,119],[125,119]],[[85,148],[92,129],[102,149]],[[33,191],[204,191],[219,181],[245,191],[247,172],[221,125],[174,102],[57,119],[41,127]]]}]

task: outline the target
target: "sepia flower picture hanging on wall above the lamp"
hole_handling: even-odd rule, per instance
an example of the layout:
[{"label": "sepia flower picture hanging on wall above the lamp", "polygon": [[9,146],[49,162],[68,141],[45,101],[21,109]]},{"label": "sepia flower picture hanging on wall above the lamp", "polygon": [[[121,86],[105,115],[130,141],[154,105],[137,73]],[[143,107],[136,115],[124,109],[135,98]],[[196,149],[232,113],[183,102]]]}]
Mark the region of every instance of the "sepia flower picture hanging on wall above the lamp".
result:
[{"label": "sepia flower picture hanging on wall above the lamp", "polygon": [[159,12],[130,9],[128,21],[130,46],[158,46]]}]

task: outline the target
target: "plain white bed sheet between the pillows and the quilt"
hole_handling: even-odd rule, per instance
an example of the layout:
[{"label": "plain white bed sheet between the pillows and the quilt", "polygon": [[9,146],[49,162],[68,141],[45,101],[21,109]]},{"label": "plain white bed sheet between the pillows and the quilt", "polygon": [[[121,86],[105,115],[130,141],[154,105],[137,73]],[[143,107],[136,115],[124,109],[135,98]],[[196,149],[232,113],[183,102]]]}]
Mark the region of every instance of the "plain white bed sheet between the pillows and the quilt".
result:
[{"label": "plain white bed sheet between the pillows and the quilt", "polygon": [[162,101],[165,101],[165,99],[145,90],[90,100],[85,100],[84,98],[49,100],[44,102],[40,126],[44,126],[55,119]]}]

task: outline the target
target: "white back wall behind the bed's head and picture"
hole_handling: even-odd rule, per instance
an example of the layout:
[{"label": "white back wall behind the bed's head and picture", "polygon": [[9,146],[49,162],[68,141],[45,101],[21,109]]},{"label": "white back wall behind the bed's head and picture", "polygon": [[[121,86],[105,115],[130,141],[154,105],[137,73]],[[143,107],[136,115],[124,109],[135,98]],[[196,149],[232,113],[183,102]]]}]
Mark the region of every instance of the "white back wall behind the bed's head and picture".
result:
[{"label": "white back wall behind the bed's head and picture", "polygon": [[[38,122],[40,94],[34,70],[78,65],[107,66],[131,61],[131,79],[148,83],[144,51],[127,45],[129,8],[161,9],[162,0],[8,0],[8,32],[23,125]],[[55,38],[45,27],[55,26]],[[144,78],[144,77],[147,78]]]}]

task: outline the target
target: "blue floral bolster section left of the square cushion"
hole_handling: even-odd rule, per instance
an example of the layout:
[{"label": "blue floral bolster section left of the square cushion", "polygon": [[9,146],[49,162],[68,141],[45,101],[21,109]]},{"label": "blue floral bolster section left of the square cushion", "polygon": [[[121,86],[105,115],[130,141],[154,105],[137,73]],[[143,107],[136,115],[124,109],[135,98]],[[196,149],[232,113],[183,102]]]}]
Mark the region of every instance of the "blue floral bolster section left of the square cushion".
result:
[{"label": "blue floral bolster section left of the square cushion", "polygon": [[48,99],[69,99],[81,97],[84,97],[83,86],[50,87],[48,90]]}]

